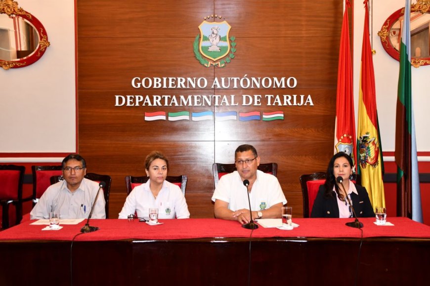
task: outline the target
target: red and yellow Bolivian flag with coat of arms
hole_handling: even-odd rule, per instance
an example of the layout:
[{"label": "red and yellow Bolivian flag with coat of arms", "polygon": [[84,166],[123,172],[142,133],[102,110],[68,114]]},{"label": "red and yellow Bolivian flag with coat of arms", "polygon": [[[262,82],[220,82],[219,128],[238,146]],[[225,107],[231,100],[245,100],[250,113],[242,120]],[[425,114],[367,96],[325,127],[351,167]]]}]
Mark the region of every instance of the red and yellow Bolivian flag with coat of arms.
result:
[{"label": "red and yellow Bolivian flag with coat of arms", "polygon": [[385,207],[381,139],[376,109],[375,74],[369,40],[369,8],[365,1],[363,46],[361,49],[358,98],[357,161],[361,184],[369,193],[373,207]]}]

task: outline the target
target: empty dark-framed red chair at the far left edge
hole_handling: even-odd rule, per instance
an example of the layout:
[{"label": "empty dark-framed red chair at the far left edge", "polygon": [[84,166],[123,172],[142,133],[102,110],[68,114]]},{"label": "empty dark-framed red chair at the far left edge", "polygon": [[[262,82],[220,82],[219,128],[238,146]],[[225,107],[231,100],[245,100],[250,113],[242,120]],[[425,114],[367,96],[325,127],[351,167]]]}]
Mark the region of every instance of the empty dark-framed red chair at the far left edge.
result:
[{"label": "empty dark-framed red chair at the far left edge", "polygon": [[0,205],[2,228],[9,227],[9,204],[15,205],[16,224],[22,219],[22,184],[25,166],[0,165]]}]

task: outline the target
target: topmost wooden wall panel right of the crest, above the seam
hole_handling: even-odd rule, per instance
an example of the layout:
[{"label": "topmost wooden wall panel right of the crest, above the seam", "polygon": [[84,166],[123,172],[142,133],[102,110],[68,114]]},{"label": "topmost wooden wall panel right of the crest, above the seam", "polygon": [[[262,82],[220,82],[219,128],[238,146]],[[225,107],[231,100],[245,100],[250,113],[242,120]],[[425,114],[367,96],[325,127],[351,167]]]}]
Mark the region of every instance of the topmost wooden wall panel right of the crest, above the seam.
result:
[{"label": "topmost wooden wall panel right of the crest, above the seam", "polygon": [[338,35],[342,7],[342,1],[336,0],[215,1],[216,13],[234,26],[234,31],[257,39]]}]

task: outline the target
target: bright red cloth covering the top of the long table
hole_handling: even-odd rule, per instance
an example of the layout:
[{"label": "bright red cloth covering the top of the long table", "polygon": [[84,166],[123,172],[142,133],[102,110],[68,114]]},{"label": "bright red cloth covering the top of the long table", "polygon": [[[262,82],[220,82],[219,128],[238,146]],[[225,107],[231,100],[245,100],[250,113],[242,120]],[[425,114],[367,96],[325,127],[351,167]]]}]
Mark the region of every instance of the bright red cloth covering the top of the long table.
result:
[{"label": "bright red cloth covering the top of the long table", "polygon": [[[80,234],[86,221],[78,225],[63,225],[61,230],[42,231],[43,225],[30,225],[27,221],[0,232],[0,241],[5,240],[72,240],[105,241],[123,239],[173,240],[196,238],[360,238],[361,231],[345,226],[348,218],[296,218],[300,226],[293,230],[263,228],[251,231],[242,228],[236,221],[221,219],[164,219],[163,224],[150,226],[137,220],[93,219],[91,226],[100,229],[95,232]],[[375,218],[362,218],[363,237],[389,238],[426,238],[430,239],[430,226],[415,222],[405,217],[391,217],[387,221],[394,226],[377,226]]]}]

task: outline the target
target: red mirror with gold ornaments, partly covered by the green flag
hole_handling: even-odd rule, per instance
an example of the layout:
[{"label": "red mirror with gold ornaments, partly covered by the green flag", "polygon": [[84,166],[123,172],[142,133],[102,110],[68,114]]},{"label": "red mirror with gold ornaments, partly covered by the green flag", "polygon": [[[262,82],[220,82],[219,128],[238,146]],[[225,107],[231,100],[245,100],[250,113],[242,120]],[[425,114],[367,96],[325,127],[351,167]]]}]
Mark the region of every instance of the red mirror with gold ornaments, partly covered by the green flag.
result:
[{"label": "red mirror with gold ornaments, partly covered by the green flag", "polygon": [[[400,58],[405,8],[392,13],[382,25],[378,36],[386,52],[396,60]],[[418,0],[411,5],[411,64],[418,68],[430,65],[430,0]]]}]

